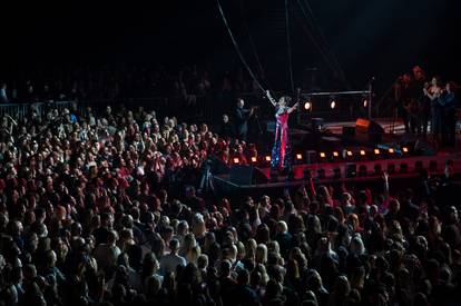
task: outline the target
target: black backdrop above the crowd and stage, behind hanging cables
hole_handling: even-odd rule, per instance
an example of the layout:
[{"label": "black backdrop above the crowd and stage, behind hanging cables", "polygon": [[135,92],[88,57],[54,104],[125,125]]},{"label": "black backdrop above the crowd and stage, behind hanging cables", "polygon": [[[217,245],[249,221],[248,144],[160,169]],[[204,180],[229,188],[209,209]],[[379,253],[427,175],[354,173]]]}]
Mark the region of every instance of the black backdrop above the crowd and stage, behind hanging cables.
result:
[{"label": "black backdrop above the crowd and stage, behind hanging cables", "polygon": [[[195,62],[229,70],[239,63],[216,0],[12,2],[2,3],[0,19],[3,78],[84,63]],[[252,68],[257,70],[256,49],[272,86],[287,88],[285,1],[220,2]],[[371,76],[384,89],[414,65],[459,80],[461,1],[311,0],[315,20],[300,9],[305,2],[288,1],[296,86],[311,81],[316,68],[318,82],[336,87],[334,71],[312,41],[322,36],[355,89]]]}]

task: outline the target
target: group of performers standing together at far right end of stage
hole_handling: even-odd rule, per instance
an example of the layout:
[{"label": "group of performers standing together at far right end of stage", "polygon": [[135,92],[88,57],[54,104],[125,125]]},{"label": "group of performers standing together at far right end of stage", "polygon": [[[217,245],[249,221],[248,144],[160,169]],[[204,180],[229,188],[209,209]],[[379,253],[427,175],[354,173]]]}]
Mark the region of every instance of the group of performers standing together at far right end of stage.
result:
[{"label": "group of performers standing together at far right end of stage", "polygon": [[439,76],[429,79],[415,66],[403,73],[394,86],[396,109],[403,119],[405,132],[426,136],[428,129],[438,146],[454,146],[458,100],[457,85],[442,82]]}]

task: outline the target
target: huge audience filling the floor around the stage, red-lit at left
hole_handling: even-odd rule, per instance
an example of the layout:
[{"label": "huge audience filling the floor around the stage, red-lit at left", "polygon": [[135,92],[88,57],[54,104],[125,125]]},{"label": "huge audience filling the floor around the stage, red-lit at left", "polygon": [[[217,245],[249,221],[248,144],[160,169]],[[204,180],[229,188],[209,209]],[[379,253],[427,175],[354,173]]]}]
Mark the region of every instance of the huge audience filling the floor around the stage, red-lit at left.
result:
[{"label": "huge audience filling the floor around the stage, red-lit at left", "polygon": [[3,117],[0,305],[460,303],[450,162],[414,189],[196,191],[208,157],[255,155],[143,109]]}]

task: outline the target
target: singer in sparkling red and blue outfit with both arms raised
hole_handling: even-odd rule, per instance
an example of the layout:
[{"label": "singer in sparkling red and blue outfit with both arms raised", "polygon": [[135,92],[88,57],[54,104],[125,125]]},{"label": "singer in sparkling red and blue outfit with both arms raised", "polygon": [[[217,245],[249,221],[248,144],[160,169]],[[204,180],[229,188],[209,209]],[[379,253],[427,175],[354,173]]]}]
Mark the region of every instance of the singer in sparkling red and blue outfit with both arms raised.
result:
[{"label": "singer in sparkling red and blue outfit with both arms raised", "polygon": [[287,170],[291,167],[290,164],[290,144],[288,144],[288,116],[297,108],[297,102],[288,107],[291,98],[284,96],[279,98],[278,102],[271,97],[269,91],[266,91],[267,98],[275,107],[275,141],[272,149],[271,168],[274,170]]}]

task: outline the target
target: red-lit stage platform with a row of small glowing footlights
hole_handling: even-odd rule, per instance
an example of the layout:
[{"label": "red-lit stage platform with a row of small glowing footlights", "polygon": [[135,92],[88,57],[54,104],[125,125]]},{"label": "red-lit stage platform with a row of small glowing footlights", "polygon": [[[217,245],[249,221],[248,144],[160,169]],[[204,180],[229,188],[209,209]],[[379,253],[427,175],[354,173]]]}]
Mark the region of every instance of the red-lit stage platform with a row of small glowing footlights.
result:
[{"label": "red-lit stage platform with a row of small glowing footlights", "polygon": [[[401,120],[392,122],[384,118],[374,121],[384,131],[379,141],[360,139],[357,134],[344,135],[345,129],[355,127],[355,121],[326,122],[323,132],[292,129],[290,137],[294,142],[294,151],[291,174],[271,175],[268,162],[233,165],[229,174],[213,174],[215,189],[224,195],[279,191],[305,185],[308,178],[313,178],[316,184],[353,182],[365,186],[382,182],[383,171],[389,172],[391,181],[410,182],[418,180],[422,169],[430,170],[434,176],[444,175],[448,162],[455,177],[461,174],[460,150],[445,148],[437,151],[423,138],[406,135]],[[361,155],[362,151],[365,154]],[[320,155],[325,158],[322,159]],[[303,158],[297,159],[296,156]]]}]

